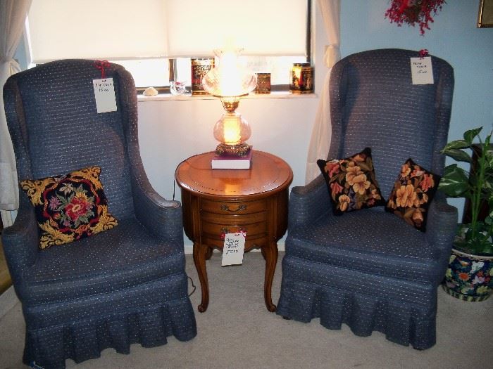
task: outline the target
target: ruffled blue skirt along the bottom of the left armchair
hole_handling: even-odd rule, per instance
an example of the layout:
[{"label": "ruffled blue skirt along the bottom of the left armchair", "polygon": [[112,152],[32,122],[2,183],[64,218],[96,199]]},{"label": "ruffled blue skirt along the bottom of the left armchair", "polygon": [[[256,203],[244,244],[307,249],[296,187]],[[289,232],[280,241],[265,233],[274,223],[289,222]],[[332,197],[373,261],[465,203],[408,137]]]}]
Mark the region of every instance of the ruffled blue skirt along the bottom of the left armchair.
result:
[{"label": "ruffled blue skirt along the bottom of the left armchair", "polygon": [[196,336],[187,276],[177,273],[110,294],[23,306],[26,335],[23,362],[63,369],[65,359],[80,363],[107,348],[130,354],[130,344],[156,347],[175,336]]}]

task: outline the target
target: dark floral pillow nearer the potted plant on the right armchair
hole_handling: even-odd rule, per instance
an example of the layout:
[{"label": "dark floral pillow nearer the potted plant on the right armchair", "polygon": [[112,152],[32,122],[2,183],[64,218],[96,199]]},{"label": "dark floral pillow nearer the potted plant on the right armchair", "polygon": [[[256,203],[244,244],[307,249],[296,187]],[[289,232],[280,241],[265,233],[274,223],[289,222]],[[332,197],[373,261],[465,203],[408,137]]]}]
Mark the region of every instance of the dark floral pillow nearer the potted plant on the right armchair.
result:
[{"label": "dark floral pillow nearer the potted plant on the right armchair", "polygon": [[385,210],[424,232],[428,207],[437,192],[439,181],[440,176],[423,169],[409,158],[401,167]]}]

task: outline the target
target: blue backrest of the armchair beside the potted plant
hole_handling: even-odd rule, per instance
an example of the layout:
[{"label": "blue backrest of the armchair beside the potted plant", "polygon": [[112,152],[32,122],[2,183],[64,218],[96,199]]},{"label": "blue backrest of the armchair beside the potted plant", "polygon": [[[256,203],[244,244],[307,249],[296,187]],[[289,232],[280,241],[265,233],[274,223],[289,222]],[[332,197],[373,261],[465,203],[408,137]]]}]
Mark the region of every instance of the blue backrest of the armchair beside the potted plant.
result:
[{"label": "blue backrest of the armchair beside the potted plant", "polygon": [[329,159],[372,149],[386,198],[408,157],[442,174],[454,72],[432,56],[433,84],[413,85],[411,57],[418,52],[381,49],[339,60],[330,76],[332,141]]}]

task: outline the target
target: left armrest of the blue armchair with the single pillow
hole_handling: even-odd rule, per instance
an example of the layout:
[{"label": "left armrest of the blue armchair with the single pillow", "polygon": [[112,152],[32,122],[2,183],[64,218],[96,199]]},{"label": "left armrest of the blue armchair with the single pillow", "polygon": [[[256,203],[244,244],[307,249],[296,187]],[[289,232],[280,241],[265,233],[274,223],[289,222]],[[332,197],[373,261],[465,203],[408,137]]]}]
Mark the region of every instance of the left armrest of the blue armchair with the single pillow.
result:
[{"label": "left armrest of the blue armchair with the single pillow", "polygon": [[14,285],[20,283],[23,273],[35,264],[39,252],[38,226],[35,208],[21,194],[14,224],[4,229],[1,242]]}]

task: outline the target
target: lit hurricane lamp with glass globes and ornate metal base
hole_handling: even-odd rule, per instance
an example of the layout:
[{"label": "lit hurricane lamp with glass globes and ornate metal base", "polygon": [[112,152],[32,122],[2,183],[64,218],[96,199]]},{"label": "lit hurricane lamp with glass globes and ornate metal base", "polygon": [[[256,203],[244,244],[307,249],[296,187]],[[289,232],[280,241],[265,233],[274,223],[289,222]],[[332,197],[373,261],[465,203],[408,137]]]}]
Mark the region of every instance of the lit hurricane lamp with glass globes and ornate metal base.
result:
[{"label": "lit hurricane lamp with glass globes and ornate metal base", "polygon": [[250,150],[246,143],[251,136],[250,126],[236,109],[239,98],[255,89],[257,78],[255,73],[239,63],[240,52],[241,49],[215,50],[217,66],[202,79],[204,89],[220,98],[225,110],[225,114],[214,126],[214,138],[219,141],[216,147],[218,155],[243,157]]}]

